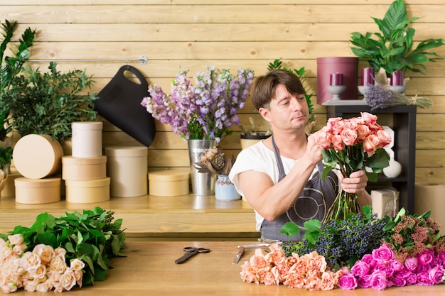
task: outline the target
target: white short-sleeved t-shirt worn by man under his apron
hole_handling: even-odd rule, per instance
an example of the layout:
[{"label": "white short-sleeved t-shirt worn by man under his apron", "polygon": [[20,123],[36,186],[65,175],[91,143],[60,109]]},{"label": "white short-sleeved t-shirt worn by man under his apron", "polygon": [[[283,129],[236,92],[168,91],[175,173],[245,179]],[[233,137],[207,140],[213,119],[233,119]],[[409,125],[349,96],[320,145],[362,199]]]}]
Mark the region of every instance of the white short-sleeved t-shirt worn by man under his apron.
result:
[{"label": "white short-sleeved t-shirt worn by man under his apron", "polygon": [[[285,158],[283,156],[281,156],[281,158],[283,162],[284,172],[287,175],[298,160]],[[238,174],[240,172],[246,172],[247,170],[264,172],[271,177],[274,184],[277,184],[278,182],[279,172],[277,160],[275,160],[274,151],[267,148],[264,145],[263,141],[260,141],[259,143],[256,143],[248,148],[241,150],[240,154],[238,154],[237,156],[235,163],[233,164],[232,170],[230,170],[230,180],[235,185],[237,192],[241,195],[244,194],[242,193],[242,190],[240,188]],[[317,172],[317,170],[317,167],[313,169],[311,177],[314,172]],[[257,220],[256,229],[257,231],[259,231],[261,229],[262,222],[264,221],[264,217],[258,214],[257,211],[255,211],[255,217]]]}]

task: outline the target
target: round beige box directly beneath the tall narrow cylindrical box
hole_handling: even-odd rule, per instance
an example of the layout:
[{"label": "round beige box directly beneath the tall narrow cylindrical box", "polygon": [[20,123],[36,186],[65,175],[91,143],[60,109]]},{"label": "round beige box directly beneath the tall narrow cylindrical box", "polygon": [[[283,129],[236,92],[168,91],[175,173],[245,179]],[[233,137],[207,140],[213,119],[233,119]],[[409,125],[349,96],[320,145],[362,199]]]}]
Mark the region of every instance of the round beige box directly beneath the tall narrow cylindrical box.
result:
[{"label": "round beige box directly beneath the tall narrow cylindrical box", "polygon": [[71,181],[101,180],[107,177],[107,156],[98,158],[62,158],[62,179]]}]

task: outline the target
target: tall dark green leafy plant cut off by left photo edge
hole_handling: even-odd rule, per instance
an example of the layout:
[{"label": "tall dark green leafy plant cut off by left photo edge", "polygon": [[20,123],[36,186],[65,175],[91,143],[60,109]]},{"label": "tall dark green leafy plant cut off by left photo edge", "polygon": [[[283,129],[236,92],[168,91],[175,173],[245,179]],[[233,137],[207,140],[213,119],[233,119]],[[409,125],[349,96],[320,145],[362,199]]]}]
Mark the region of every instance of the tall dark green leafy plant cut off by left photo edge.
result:
[{"label": "tall dark green leafy plant cut off by left photo edge", "polygon": [[[9,109],[5,106],[5,94],[9,92],[11,82],[22,70],[23,64],[31,56],[29,48],[33,45],[35,30],[26,28],[18,39],[16,49],[9,48],[9,43],[14,37],[16,21],[6,20],[1,23],[2,40],[0,43],[0,190],[3,189],[6,177],[9,173],[9,164],[12,159],[12,141],[9,138],[11,126],[9,125]],[[6,50],[11,50],[12,56],[5,55]]]}]

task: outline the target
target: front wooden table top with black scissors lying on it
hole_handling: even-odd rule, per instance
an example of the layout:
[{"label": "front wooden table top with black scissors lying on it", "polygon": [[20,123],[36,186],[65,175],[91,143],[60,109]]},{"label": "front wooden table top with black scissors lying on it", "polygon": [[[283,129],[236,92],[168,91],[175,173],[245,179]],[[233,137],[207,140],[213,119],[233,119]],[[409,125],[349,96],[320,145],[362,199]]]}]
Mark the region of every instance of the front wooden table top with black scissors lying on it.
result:
[{"label": "front wooden table top with black scissors lying on it", "polygon": [[[390,287],[372,289],[315,291],[290,289],[284,285],[267,286],[245,283],[240,278],[241,265],[254,254],[247,249],[240,263],[232,264],[240,241],[127,241],[123,249],[126,258],[112,258],[114,268],[107,279],[94,286],[63,292],[82,296],[122,295],[299,295],[299,296],[400,296],[445,295],[444,285]],[[252,242],[250,242],[252,243]],[[183,255],[184,246],[210,248],[210,253],[198,254],[183,264],[174,261]],[[36,292],[15,292],[15,295],[36,295]],[[49,295],[49,294],[48,294]]]}]

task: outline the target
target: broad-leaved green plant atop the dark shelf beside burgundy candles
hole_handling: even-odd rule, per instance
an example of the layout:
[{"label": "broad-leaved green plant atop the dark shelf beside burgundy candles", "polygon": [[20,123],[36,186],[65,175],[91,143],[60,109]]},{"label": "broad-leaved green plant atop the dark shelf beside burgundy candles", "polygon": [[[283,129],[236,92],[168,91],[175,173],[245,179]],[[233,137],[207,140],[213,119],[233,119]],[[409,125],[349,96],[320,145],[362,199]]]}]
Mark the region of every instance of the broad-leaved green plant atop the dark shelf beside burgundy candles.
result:
[{"label": "broad-leaved green plant atop the dark shelf beside burgundy candles", "polygon": [[359,60],[369,62],[370,67],[377,71],[385,69],[387,77],[395,70],[421,72],[427,70],[424,62],[434,62],[442,57],[430,52],[431,48],[444,45],[443,38],[430,38],[414,45],[414,28],[409,27],[418,17],[408,18],[403,0],[392,2],[383,19],[372,18],[380,32],[365,35],[353,32],[350,43],[355,45],[351,50]]}]

